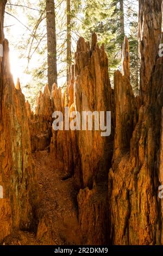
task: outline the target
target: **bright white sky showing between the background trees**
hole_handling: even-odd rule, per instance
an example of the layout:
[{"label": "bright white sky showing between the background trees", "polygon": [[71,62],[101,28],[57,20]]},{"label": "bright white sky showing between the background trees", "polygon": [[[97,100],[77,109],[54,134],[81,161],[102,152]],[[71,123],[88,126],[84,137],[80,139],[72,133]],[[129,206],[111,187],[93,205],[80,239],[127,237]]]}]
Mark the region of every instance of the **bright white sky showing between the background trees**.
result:
[{"label": "bright white sky showing between the background trees", "polygon": [[[4,32],[10,44],[11,72],[15,82],[17,77],[20,78],[23,93],[27,99],[32,97],[32,100],[35,99],[36,93],[43,88],[43,85],[47,83],[47,36],[44,2],[43,0],[10,0],[8,1],[5,13]],[[138,1],[130,0],[123,1],[123,3],[125,33],[130,35],[130,22],[133,19],[137,21],[137,17],[129,15],[129,11],[131,13],[133,10],[135,13],[138,12]],[[85,1],[73,0],[73,6],[71,6],[72,62],[79,36],[85,37],[84,26],[82,26],[85,22],[84,4]],[[131,6],[131,10],[129,6]],[[67,72],[65,0],[55,1],[55,12],[57,24],[58,86],[64,87]],[[39,22],[37,23],[37,21]],[[35,30],[36,27],[37,29]],[[116,68],[120,69],[120,65],[117,65]]]}]

